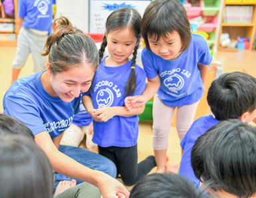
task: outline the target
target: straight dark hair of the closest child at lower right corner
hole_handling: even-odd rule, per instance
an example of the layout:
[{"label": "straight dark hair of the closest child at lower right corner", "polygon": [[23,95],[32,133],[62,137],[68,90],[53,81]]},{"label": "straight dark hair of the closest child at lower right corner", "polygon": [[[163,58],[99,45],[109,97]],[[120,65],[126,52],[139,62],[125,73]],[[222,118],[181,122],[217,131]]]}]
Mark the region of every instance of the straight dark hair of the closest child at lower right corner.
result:
[{"label": "straight dark hair of the closest child at lower right corner", "polygon": [[225,120],[199,137],[191,151],[195,176],[214,191],[256,193],[256,128]]}]

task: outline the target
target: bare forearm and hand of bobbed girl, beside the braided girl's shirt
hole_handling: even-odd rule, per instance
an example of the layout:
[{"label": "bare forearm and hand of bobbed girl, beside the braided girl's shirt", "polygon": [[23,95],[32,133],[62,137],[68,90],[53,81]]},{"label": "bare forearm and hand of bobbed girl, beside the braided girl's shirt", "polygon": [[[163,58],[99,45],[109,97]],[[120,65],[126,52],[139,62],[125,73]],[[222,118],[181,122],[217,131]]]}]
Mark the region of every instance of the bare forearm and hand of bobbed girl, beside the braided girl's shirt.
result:
[{"label": "bare forearm and hand of bobbed girl, beside the braided girl's shirt", "polygon": [[145,103],[159,90],[160,85],[161,80],[158,75],[155,78],[148,79],[146,89],[141,96],[128,96],[125,98],[127,110],[145,106]]}]

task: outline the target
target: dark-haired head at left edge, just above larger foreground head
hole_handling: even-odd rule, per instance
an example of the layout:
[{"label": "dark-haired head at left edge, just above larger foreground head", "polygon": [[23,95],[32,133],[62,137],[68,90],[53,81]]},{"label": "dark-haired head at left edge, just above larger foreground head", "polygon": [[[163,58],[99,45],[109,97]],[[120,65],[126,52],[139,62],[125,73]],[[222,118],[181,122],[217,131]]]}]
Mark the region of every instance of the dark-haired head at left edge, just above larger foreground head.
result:
[{"label": "dark-haired head at left edge, just above larger foreground head", "polygon": [[0,136],[7,135],[21,135],[34,139],[34,136],[29,128],[23,123],[7,116],[6,114],[0,114]]}]

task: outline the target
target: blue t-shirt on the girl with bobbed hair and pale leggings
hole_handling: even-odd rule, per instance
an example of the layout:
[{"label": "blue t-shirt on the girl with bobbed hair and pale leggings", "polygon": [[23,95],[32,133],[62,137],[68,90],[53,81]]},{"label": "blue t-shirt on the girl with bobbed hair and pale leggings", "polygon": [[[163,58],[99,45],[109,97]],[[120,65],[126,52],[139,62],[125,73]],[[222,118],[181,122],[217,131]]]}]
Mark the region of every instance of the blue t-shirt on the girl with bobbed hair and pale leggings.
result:
[{"label": "blue t-shirt on the girl with bobbed hair and pale leggings", "polygon": [[201,35],[192,34],[189,48],[175,60],[164,60],[147,48],[143,49],[141,58],[147,78],[159,75],[161,86],[157,94],[167,106],[193,104],[203,96],[203,81],[197,63],[207,65],[213,58]]}]

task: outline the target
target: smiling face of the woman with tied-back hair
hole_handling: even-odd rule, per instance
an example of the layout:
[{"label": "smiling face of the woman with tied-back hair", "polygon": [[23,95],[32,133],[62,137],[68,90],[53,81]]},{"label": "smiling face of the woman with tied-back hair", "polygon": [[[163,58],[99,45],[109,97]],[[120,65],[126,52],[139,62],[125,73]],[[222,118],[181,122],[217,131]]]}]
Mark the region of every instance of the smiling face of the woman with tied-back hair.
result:
[{"label": "smiling face of the woman with tied-back hair", "polygon": [[64,102],[71,102],[81,92],[89,90],[94,73],[93,66],[83,63],[67,71],[51,74],[53,95]]}]

